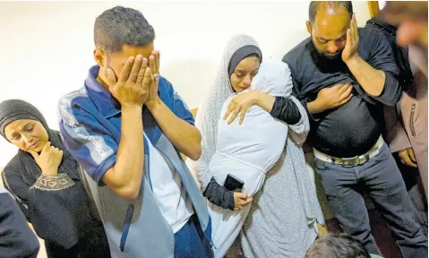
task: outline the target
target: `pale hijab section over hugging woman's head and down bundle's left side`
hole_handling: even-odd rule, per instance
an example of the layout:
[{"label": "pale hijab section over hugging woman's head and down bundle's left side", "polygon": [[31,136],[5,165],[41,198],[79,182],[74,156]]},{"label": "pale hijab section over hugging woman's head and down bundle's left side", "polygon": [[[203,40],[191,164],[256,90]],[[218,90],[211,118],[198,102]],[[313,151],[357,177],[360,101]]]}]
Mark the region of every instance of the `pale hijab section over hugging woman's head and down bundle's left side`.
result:
[{"label": "pale hijab section over hugging woman's head and down bundle's left side", "polygon": [[247,35],[235,35],[229,39],[220,61],[216,80],[198,108],[195,125],[202,133],[202,156],[197,161],[188,159],[186,163],[193,175],[196,175],[202,183],[202,191],[205,190],[212,177],[209,163],[216,151],[220,110],[225,100],[235,93],[229,81],[228,65],[236,50],[248,45],[259,47],[256,40]]}]

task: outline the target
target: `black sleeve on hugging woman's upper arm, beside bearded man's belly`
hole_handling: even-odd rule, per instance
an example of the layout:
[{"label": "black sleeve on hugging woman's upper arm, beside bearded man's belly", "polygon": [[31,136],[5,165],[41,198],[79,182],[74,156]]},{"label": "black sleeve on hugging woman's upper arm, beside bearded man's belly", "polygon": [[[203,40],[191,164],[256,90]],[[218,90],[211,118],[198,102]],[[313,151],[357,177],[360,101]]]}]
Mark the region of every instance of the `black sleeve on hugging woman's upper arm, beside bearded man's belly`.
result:
[{"label": "black sleeve on hugging woman's upper arm, beside bearded man's belly", "polygon": [[284,97],[276,97],[270,115],[287,125],[295,125],[301,119],[301,113],[299,113],[294,100]]}]

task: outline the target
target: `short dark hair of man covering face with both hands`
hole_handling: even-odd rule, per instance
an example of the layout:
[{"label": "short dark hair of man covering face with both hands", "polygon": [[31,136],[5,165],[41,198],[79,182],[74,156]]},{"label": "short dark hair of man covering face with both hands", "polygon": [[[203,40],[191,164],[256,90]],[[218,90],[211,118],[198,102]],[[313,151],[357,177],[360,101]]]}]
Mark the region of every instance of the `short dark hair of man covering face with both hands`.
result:
[{"label": "short dark hair of man covering face with both hands", "polygon": [[124,44],[145,47],[155,39],[155,30],[140,11],[116,6],[101,13],[94,24],[94,43],[108,53],[122,50]]}]

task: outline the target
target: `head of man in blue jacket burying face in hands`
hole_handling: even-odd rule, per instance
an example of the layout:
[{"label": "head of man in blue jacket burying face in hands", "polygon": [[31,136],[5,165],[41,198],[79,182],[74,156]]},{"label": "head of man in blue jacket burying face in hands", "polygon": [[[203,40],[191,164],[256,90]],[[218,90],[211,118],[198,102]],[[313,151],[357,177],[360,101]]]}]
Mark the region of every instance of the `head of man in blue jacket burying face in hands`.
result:
[{"label": "head of man in blue jacket burying face in hands", "polygon": [[[97,81],[103,87],[115,85],[130,57],[143,58],[150,66],[154,51],[155,30],[140,11],[116,6],[101,13],[94,24],[94,59],[99,64]],[[155,71],[151,71],[155,72]],[[128,74],[126,74],[128,76]]]}]

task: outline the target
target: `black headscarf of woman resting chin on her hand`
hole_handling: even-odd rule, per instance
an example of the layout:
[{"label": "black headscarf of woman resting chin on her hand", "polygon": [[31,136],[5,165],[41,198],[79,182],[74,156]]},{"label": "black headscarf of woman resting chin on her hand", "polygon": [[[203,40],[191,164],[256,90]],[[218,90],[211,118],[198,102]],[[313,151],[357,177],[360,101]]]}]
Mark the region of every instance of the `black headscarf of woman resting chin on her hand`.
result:
[{"label": "black headscarf of woman resting chin on her hand", "polygon": [[[21,99],[8,99],[0,103],[0,133],[3,135],[4,139],[7,140],[6,136],[4,135],[4,127],[19,119],[31,119],[39,121],[43,127],[45,127],[45,130],[47,130],[47,135],[51,145],[60,150],[63,150],[64,152],[63,160],[58,167],[58,174],[65,173],[73,179],[80,179],[78,170],[79,165],[77,161],[73,159],[72,155],[70,155],[67,150],[65,150],[60,134],[54,130],[49,129],[47,126],[47,121],[39,112],[38,108]],[[38,164],[36,163],[36,160],[33,159],[30,153],[23,150],[18,150],[17,158],[19,159],[21,176],[23,180],[28,185],[33,185],[42,173]]]}]

